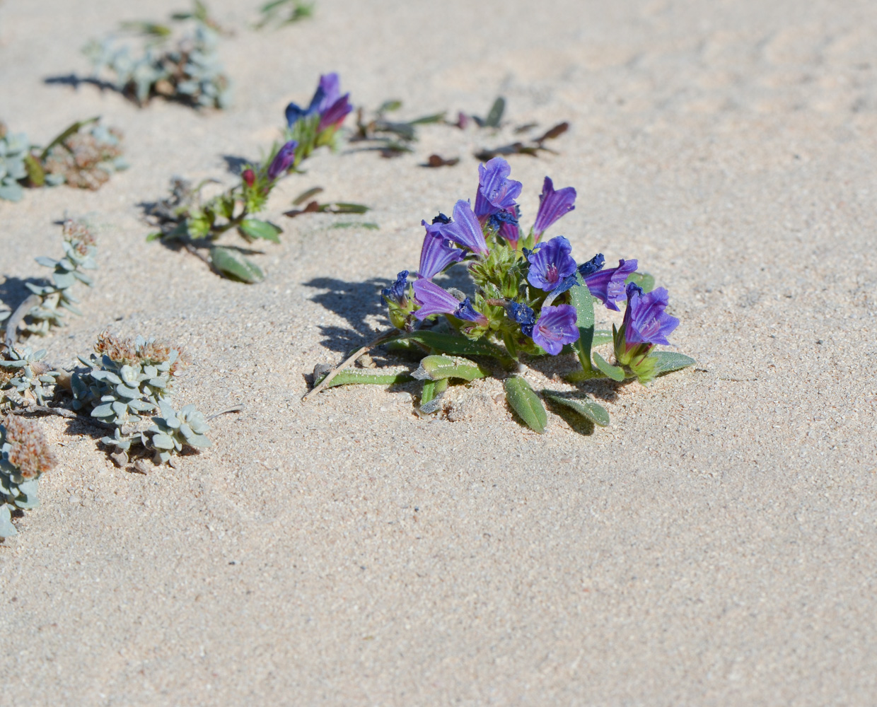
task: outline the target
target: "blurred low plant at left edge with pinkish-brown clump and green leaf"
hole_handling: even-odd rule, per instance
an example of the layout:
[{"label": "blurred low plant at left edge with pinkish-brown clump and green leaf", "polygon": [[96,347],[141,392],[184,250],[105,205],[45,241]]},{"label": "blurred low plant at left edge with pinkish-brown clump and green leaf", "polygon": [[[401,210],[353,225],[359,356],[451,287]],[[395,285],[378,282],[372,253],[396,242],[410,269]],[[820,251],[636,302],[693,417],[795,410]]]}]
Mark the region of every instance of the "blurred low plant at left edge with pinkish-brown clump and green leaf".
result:
[{"label": "blurred low plant at left edge with pinkish-brown clump and green leaf", "polygon": [[127,168],[122,133],[98,121],[78,121],[44,148],[32,145],[24,132],[10,133],[0,124],[0,199],[18,201],[24,187],[100,189],[111,175]]}]

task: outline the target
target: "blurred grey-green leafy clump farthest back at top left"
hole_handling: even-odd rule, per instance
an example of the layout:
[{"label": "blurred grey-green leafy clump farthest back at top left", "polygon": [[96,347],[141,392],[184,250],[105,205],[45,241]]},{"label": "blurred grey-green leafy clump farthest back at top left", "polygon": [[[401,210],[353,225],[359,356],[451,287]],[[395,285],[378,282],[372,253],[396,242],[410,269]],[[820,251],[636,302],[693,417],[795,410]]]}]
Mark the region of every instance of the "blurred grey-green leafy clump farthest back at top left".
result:
[{"label": "blurred grey-green leafy clump farthest back at top left", "polygon": [[[172,20],[191,20],[194,28],[168,46],[174,31],[169,25],[129,22],[125,31],[146,39],[142,49],[119,46],[115,37],[92,40],[83,49],[98,81],[110,83],[139,105],[153,96],[180,101],[196,108],[225,108],[230,102],[230,82],[217,55],[219,26],[196,0],[191,12],[177,12]],[[142,51],[142,54],[138,54]]]}]

